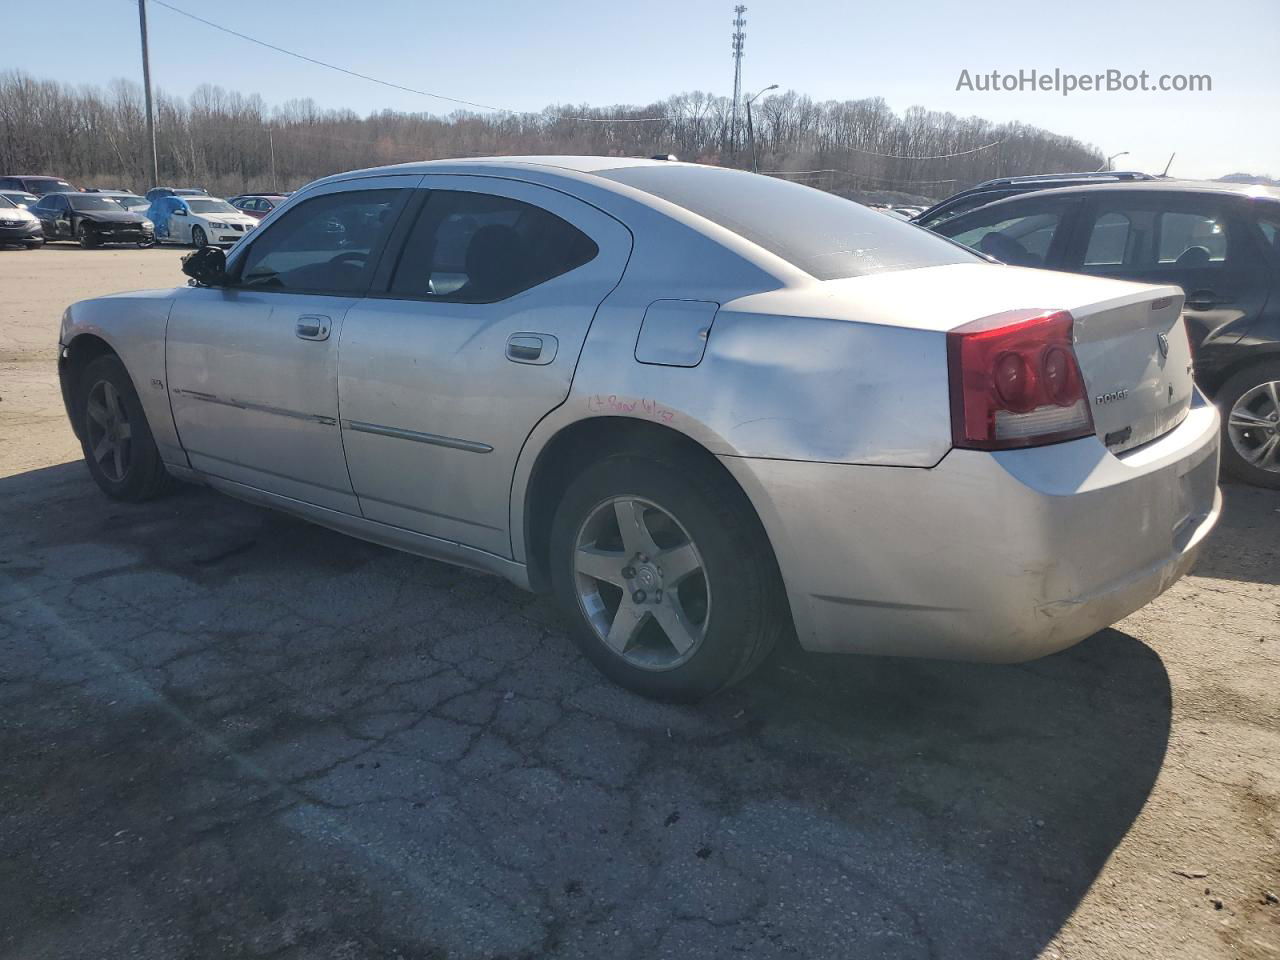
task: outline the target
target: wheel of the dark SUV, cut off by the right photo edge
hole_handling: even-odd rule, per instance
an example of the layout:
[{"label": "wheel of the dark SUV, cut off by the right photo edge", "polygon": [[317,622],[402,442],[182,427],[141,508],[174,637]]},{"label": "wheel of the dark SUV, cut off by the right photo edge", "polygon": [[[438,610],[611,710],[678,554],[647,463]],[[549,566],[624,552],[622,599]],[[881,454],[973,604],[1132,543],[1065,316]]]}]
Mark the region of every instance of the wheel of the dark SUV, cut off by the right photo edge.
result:
[{"label": "wheel of the dark SUV, cut off by the right photo edge", "polygon": [[1280,360],[1238,370],[1215,399],[1222,412],[1222,470],[1280,490]]}]

